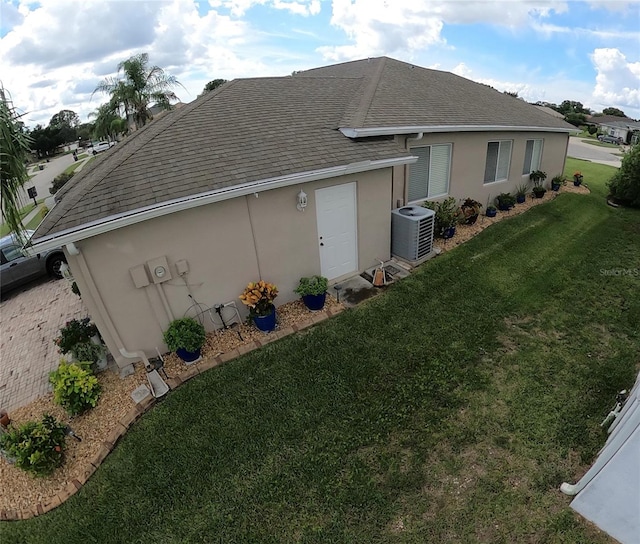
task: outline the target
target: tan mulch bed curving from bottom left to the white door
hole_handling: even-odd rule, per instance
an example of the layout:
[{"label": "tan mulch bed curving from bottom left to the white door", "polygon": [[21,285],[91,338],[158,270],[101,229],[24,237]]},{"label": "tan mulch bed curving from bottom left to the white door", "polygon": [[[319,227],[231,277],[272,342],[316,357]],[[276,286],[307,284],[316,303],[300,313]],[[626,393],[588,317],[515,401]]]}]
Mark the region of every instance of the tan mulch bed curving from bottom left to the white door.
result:
[{"label": "tan mulch bed curving from bottom left to the white door", "polygon": [[[330,295],[327,296],[325,310],[336,311],[342,304]],[[278,307],[278,326],[274,333],[265,334],[252,325],[243,323],[227,330],[217,330],[207,334],[202,348],[202,361],[188,366],[175,354],[163,356],[164,369],[169,377],[179,376],[193,366],[202,366],[217,355],[229,353],[254,340],[264,342],[279,331],[308,322],[318,312],[307,310],[301,301],[289,302]],[[242,336],[242,340],[238,335]],[[146,372],[142,364],[135,365],[135,372],[121,379],[116,372],[106,371],[98,374],[102,393],[95,408],[86,413],[71,417],[64,409],[53,403],[53,393],[13,410],[9,415],[12,425],[39,420],[43,414],[51,414],[69,425],[81,442],[68,437],[66,440],[65,461],[52,475],[34,477],[10,464],[0,457],[0,511],[29,510],[36,504],[50,502],[56,495],[63,495],[72,482],[84,481],[83,474],[90,462],[99,455],[103,443],[108,441],[119,421],[135,406],[131,393],[142,384],[147,384]]]}]

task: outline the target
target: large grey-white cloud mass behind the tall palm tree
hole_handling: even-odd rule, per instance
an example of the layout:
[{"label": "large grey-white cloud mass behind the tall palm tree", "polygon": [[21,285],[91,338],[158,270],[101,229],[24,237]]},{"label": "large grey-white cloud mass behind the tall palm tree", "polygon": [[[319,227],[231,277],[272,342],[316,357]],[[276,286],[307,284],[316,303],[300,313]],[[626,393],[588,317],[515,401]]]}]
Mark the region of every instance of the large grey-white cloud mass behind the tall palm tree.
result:
[{"label": "large grey-white cloud mass behind the tall palm tree", "polygon": [[192,0],[43,0],[19,9],[22,22],[0,39],[0,74],[29,126],[46,125],[61,109],[86,119],[106,101],[91,91],[135,53],[148,52],[151,64],[176,76],[184,102],[211,79],[273,74],[263,59],[274,49],[260,47],[260,33],[215,10],[200,16]]}]

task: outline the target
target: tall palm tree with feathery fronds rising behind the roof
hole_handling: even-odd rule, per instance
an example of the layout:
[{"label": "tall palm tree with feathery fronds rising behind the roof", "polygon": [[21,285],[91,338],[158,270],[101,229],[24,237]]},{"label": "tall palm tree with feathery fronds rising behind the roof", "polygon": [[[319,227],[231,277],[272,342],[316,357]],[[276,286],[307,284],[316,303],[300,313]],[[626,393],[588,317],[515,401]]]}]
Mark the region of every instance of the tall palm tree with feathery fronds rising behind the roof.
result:
[{"label": "tall palm tree with feathery fronds rising behind the roof", "polygon": [[124,113],[125,118],[139,128],[153,119],[149,110],[151,102],[163,109],[171,109],[171,101],[178,100],[171,90],[176,85],[182,86],[159,66],[149,67],[149,55],[140,53],[118,64],[118,76],[106,78],[93,92],[110,95],[111,106]]}]

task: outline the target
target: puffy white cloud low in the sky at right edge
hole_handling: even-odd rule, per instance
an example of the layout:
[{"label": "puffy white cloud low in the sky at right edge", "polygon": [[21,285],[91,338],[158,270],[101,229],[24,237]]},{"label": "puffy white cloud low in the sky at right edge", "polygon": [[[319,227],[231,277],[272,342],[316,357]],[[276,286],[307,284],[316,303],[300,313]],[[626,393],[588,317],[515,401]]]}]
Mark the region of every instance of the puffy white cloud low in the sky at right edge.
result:
[{"label": "puffy white cloud low in the sky at right edge", "polygon": [[603,107],[640,110],[640,61],[631,62],[612,48],[594,50],[591,61],[598,73],[594,100]]}]

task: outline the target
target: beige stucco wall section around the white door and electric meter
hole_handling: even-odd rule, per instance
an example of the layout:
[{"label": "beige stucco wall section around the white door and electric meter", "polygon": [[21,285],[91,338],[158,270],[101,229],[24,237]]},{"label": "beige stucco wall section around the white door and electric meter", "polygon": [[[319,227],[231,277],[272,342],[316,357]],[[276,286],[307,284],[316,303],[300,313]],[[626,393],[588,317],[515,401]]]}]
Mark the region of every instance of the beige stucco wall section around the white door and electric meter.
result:
[{"label": "beige stucco wall section around the white door and electric meter", "polygon": [[[120,344],[147,356],[156,347],[165,351],[162,331],[192,305],[189,293],[207,306],[236,301],[243,314],[238,296],[260,278],[278,286],[276,305],[297,298],[299,278],[320,273],[315,190],[350,182],[356,183],[361,272],[389,257],[391,168],[238,197],[77,242],[81,255],[69,255],[69,266],[118,363],[130,362],[119,355]],[[296,209],[300,189],[308,195],[304,212]],[[163,256],[172,279],[136,288],[130,269]],[[186,276],[177,274],[180,260],[189,264]]]}]

